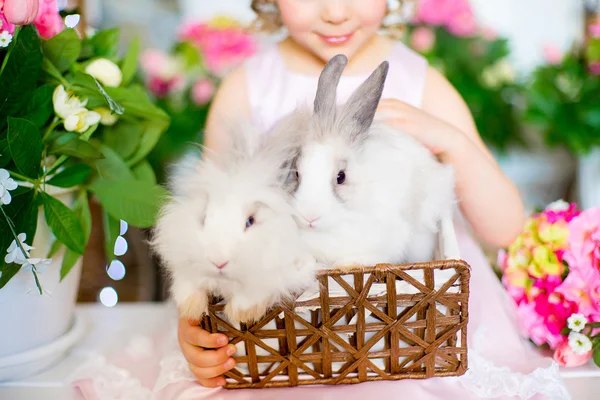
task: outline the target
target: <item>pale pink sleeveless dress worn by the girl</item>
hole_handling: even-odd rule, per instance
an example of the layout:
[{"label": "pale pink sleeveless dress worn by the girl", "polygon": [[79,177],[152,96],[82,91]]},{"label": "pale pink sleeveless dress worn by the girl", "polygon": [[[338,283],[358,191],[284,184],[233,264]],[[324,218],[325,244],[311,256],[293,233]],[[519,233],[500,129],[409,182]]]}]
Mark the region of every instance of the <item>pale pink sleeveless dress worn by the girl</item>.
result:
[{"label": "pale pink sleeveless dress worn by the girl", "polygon": [[[388,58],[384,97],[419,107],[427,62],[398,44]],[[286,69],[272,46],[247,63],[254,122],[268,130],[302,102],[312,102],[317,77]],[[366,76],[344,76],[338,98],[344,101]],[[152,338],[134,338],[127,348],[100,355],[73,381],[80,399],[570,399],[558,365],[538,354],[519,334],[515,308],[482,250],[460,218],[456,221],[461,256],[472,267],[469,299],[469,369],[461,377],[367,382],[342,386],[227,390],[207,389],[194,380],[176,339],[176,311],[170,329]],[[145,349],[145,350],[144,350]]]}]

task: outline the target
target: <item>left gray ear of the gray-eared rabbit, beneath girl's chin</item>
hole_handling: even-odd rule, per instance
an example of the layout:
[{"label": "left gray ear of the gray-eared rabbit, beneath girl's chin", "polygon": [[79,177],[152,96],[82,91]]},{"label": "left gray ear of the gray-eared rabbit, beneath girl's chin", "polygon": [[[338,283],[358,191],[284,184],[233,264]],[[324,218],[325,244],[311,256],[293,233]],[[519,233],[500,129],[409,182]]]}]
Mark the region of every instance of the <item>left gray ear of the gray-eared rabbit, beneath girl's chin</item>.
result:
[{"label": "left gray ear of the gray-eared rabbit, beneath girl's chin", "polygon": [[343,54],[338,54],[329,60],[319,76],[314,111],[315,117],[322,127],[331,127],[333,125],[337,86],[346,64],[348,64],[348,58]]}]

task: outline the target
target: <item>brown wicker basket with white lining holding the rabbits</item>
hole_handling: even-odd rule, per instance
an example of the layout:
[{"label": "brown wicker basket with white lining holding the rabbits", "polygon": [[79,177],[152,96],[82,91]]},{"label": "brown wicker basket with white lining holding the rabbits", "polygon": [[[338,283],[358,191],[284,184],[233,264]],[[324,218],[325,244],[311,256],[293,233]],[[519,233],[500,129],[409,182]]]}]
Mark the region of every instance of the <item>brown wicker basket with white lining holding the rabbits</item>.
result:
[{"label": "brown wicker basket with white lining holding the rabbits", "polygon": [[225,387],[462,375],[470,267],[458,257],[451,221],[442,224],[438,257],[320,271],[318,293],[273,308],[252,325],[232,326],[223,304],[211,299],[203,328],[226,334],[238,348]]}]

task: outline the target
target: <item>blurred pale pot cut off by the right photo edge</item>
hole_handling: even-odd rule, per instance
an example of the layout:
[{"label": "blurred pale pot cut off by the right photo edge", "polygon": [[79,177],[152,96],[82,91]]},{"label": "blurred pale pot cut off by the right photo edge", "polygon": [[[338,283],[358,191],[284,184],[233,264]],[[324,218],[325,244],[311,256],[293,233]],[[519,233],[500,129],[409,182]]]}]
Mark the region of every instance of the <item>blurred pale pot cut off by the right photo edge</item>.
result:
[{"label": "blurred pale pot cut off by the right photo edge", "polygon": [[600,206],[600,149],[577,159],[577,201],[582,210]]}]

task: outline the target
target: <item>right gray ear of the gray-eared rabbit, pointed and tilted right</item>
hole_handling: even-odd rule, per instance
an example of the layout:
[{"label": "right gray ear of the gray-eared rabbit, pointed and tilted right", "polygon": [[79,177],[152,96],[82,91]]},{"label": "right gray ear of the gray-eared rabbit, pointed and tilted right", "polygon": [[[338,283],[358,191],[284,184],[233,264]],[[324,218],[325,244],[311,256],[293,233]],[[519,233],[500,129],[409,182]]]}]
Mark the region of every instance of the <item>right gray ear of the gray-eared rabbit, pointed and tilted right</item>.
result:
[{"label": "right gray ear of the gray-eared rabbit, pointed and tilted right", "polygon": [[343,127],[348,129],[351,141],[360,139],[371,127],[383,93],[388,70],[389,63],[382,62],[371,76],[352,93],[344,106],[340,122]]}]

